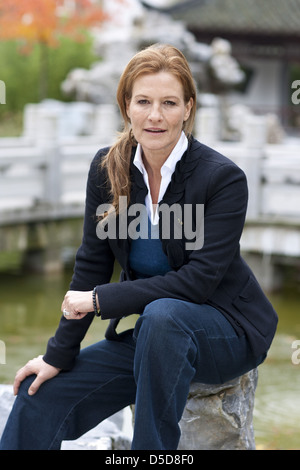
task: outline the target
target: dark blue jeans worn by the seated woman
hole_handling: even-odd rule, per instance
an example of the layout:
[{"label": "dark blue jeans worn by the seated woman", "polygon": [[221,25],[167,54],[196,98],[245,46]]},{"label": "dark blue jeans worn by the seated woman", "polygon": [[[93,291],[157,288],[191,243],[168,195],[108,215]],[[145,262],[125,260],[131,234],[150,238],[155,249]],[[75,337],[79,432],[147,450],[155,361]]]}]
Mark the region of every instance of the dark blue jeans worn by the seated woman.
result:
[{"label": "dark blue jeans worn by the seated woman", "polygon": [[[78,320],[80,321],[80,320]],[[60,449],[135,403],[132,449],[176,449],[190,383],[223,383],[255,368],[245,336],[209,305],[174,299],[149,304],[120,341],[83,349],[71,371],[61,372],[29,396],[22,384],[0,449]]]}]

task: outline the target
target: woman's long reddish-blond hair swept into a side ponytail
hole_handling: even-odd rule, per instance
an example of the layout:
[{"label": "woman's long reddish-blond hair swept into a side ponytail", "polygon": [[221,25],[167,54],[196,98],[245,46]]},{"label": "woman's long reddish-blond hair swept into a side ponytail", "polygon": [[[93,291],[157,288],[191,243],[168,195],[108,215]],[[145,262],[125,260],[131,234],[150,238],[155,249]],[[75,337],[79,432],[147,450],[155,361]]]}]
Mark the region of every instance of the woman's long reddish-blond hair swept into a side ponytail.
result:
[{"label": "woman's long reddish-blond hair swept into a side ponytail", "polygon": [[130,120],[126,112],[126,102],[131,100],[135,80],[141,75],[169,72],[182,84],[185,103],[193,99],[189,118],[183,123],[187,137],[191,135],[196,113],[196,87],[185,56],[176,47],[154,44],[138,52],[128,63],[121,75],[117,90],[117,101],[124,121],[124,129],[118,140],[105,156],[102,167],[107,171],[112,204],[119,211],[119,196],[130,197],[130,160],[132,147],[137,145]]}]

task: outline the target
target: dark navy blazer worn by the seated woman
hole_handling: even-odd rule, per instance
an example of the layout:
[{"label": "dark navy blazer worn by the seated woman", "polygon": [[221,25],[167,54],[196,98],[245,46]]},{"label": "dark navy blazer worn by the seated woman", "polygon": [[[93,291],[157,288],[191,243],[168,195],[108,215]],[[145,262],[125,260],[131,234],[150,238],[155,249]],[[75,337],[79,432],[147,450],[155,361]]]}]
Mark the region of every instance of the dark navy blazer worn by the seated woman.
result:
[{"label": "dark navy blazer worn by the seated woman", "polygon": [[[239,335],[246,334],[254,355],[266,353],[275,334],[277,314],[240,255],[248,200],[243,171],[215,150],[190,140],[160,204],[176,203],[182,208],[184,204],[204,204],[203,247],[187,250],[190,240],[184,236],[177,239],[173,227],[169,239],[162,239],[173,270],[164,276],[136,280],[128,263],[129,237],[100,240],[96,233],[97,207],[109,203],[106,178],[99,171],[99,162],[107,151],[100,150],[90,167],[83,239],[70,285],[72,290],[97,286],[101,317],[112,319],[106,337],[117,340],[115,327],[121,317],[140,314],[149,302],[167,297],[215,306]],[[147,188],[133,163],[131,179],[130,205],[144,204]],[[184,220],[178,222],[184,224]],[[122,268],[122,282],[110,283],[115,260]],[[82,320],[62,317],[55,336],[48,342],[45,361],[71,368],[93,317],[92,312]]]}]

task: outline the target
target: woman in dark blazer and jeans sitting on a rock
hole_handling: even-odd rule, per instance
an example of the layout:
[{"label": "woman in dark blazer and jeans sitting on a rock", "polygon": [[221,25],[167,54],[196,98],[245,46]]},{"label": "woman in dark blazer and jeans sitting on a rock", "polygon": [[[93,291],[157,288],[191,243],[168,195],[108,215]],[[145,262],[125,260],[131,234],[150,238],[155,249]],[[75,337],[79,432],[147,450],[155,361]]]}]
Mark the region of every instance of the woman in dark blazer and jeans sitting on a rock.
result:
[{"label": "woman in dark blazer and jeans sitting on a rock", "polygon": [[[183,54],[137,53],[117,99],[124,131],[91,164],[64,315],[44,357],[16,375],[3,449],[59,449],[131,403],[132,449],[176,449],[190,383],[253,369],[275,333],[240,256],[246,178],[191,136],[196,90]],[[120,283],[110,283],[115,260]],[[140,314],[135,328],[117,334],[130,314]],[[79,353],[95,316],[111,319],[106,338]]]}]

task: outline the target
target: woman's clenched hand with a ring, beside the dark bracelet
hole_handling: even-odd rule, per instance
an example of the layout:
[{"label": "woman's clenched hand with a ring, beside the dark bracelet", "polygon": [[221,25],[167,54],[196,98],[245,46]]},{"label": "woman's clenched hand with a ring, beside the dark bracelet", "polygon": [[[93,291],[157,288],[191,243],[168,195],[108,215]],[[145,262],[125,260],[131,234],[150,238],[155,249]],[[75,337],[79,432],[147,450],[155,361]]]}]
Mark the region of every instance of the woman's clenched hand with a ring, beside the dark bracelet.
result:
[{"label": "woman's clenched hand with a ring, beside the dark bracelet", "polygon": [[61,305],[61,310],[68,320],[80,320],[94,310],[93,291],[69,290]]}]

